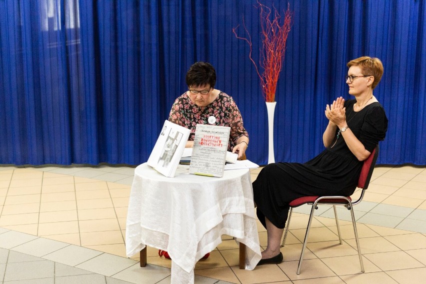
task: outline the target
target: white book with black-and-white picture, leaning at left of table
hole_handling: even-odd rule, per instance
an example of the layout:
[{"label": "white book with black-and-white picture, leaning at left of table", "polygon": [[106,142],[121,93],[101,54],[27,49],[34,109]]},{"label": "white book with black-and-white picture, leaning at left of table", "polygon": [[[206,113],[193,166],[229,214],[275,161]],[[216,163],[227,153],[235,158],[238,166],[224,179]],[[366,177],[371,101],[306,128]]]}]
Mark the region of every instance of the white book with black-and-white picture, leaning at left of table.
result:
[{"label": "white book with black-and-white picture, leaning at left of table", "polygon": [[188,128],[165,120],[146,163],[159,173],[173,177],[189,133]]}]

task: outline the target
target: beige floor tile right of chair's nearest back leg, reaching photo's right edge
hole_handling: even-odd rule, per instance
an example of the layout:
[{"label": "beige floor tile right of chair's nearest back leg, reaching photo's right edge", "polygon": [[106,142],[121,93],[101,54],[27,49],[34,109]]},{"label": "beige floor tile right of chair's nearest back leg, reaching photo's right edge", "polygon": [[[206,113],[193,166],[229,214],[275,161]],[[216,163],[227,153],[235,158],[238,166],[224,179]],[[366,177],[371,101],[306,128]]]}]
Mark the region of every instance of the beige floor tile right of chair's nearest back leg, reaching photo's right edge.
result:
[{"label": "beige floor tile right of chair's nearest back leg, reaching photo's right edge", "polygon": [[383,271],[424,266],[405,251],[379,252],[364,254],[364,256]]}]

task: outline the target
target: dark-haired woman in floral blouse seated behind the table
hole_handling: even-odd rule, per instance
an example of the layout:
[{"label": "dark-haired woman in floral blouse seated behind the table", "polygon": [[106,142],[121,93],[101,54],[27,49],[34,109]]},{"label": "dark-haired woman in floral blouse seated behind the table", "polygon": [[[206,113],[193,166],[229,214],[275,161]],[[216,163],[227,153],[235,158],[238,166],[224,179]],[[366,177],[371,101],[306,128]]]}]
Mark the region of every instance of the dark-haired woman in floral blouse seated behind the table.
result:
[{"label": "dark-haired woman in floral blouse seated behind the table", "polygon": [[174,101],[168,120],[191,130],[186,147],[193,146],[196,124],[229,126],[228,151],[241,159],[248,146],[248,133],[231,96],[215,89],[216,72],[207,62],[195,62],[186,73],[188,90]]}]

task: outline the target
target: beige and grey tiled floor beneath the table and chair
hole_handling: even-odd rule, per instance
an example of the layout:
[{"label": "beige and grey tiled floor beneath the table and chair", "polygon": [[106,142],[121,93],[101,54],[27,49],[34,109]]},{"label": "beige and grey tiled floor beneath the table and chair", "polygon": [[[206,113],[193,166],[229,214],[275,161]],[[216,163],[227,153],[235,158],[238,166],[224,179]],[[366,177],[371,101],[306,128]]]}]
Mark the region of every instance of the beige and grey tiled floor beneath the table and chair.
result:
[{"label": "beige and grey tiled floor beneath the table and chair", "polygon": [[[252,170],[254,180],[259,169]],[[0,283],[169,283],[170,261],[148,248],[147,267],[125,257],[124,234],[133,168],[0,166]],[[355,192],[354,195],[358,194]],[[349,214],[339,208],[337,245],[330,207],[320,206],[300,275],[306,213],[295,210],[284,262],[239,270],[233,239],[195,267],[196,283],[423,283],[426,277],[426,168],[377,166],[356,205],[365,273]],[[260,245],[265,229],[258,223]]]}]

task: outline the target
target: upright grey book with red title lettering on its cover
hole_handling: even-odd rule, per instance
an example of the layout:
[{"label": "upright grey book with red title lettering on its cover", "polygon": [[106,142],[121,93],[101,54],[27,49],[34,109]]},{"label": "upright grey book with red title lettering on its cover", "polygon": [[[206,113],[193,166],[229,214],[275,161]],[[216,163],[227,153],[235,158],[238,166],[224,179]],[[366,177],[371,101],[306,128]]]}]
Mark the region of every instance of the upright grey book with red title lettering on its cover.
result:
[{"label": "upright grey book with red title lettering on its cover", "polygon": [[230,127],[196,124],[189,173],[223,176]]}]

